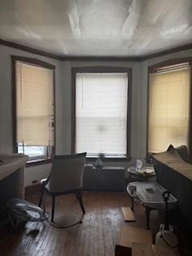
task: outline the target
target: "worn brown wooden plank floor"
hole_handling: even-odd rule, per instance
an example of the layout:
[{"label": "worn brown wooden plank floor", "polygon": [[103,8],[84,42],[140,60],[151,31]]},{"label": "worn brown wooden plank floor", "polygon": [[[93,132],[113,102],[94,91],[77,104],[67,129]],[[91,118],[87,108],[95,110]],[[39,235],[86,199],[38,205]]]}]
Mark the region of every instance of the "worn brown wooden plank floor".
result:
[{"label": "worn brown wooden plank floor", "polygon": [[[114,246],[123,225],[146,227],[145,211],[135,204],[136,223],[125,223],[122,206],[130,205],[130,198],[122,192],[84,192],[82,194],[86,214],[82,224],[69,229],[56,229],[49,222],[28,222],[25,227],[13,232],[9,225],[0,230],[0,255],[13,256],[114,256]],[[26,198],[38,203],[38,195]],[[46,210],[50,211],[50,197],[45,199]],[[82,212],[73,194],[56,198],[55,222],[67,225],[81,218]],[[158,211],[151,216],[153,233],[158,230]]]}]

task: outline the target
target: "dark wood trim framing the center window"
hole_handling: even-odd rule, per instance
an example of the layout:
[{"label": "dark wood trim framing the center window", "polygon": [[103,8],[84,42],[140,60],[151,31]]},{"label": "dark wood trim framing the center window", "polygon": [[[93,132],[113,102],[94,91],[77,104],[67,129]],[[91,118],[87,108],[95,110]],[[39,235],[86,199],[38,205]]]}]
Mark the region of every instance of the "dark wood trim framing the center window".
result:
[{"label": "dark wood trim framing the center window", "polygon": [[[127,73],[128,74],[128,104],[127,104],[127,132],[126,132],[126,156],[125,158],[106,158],[109,161],[129,161],[130,157],[130,129],[131,129],[131,88],[132,88],[132,69],[126,67],[116,67],[116,66],[83,66],[83,67],[74,67],[71,69],[71,82],[72,82],[72,106],[71,106],[71,153],[75,153],[75,82],[77,73]],[[95,158],[89,158],[94,160]]]}]

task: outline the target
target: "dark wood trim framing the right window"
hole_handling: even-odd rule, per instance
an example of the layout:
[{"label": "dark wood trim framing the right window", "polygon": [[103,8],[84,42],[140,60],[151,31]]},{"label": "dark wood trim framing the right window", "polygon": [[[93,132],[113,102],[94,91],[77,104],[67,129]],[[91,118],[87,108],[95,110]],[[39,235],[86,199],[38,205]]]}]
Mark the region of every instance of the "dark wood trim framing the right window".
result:
[{"label": "dark wood trim framing the right window", "polygon": [[159,62],[152,66],[148,66],[148,77],[147,77],[147,116],[146,116],[146,162],[150,162],[150,153],[148,152],[148,138],[149,138],[149,98],[150,98],[150,74],[154,73],[155,70],[158,70],[162,67],[172,66],[177,64],[182,64],[185,62],[189,62],[190,64],[190,135],[189,135],[189,153],[190,158],[192,158],[192,57],[186,58],[175,58],[169,59],[165,62]]}]

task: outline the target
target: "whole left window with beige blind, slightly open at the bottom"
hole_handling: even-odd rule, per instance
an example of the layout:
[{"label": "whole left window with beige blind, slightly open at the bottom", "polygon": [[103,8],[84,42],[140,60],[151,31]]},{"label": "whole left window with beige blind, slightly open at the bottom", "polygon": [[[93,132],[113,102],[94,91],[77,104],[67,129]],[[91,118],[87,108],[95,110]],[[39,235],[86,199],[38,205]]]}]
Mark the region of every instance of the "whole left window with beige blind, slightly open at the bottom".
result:
[{"label": "whole left window with beige blind, slightly open at the bottom", "polygon": [[[14,58],[14,149],[30,161],[54,150],[54,66]],[[28,62],[27,62],[28,61]],[[36,63],[37,62],[37,63]]]}]

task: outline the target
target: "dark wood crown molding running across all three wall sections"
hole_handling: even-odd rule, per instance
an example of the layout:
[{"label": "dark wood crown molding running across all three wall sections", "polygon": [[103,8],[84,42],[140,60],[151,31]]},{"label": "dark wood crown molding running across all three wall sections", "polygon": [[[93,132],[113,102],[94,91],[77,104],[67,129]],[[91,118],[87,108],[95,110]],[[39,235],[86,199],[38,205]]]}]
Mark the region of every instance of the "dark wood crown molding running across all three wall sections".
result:
[{"label": "dark wood crown molding running across all three wall sections", "polygon": [[0,38],[0,45],[22,50],[30,54],[37,54],[40,56],[44,56],[46,58],[54,58],[54,59],[57,59],[58,61],[71,61],[71,62],[76,62],[76,61],[77,62],[143,62],[150,58],[158,58],[158,57],[165,56],[167,54],[174,54],[180,51],[192,49],[192,43],[190,43],[185,46],[178,46],[170,50],[162,50],[154,54],[146,54],[143,56],[141,55],[141,56],[130,56],[130,57],[128,56],[110,57],[110,56],[70,56],[70,55],[64,56],[64,55],[50,54],[44,50],[38,50],[30,46],[24,46],[22,44],[18,44],[16,42],[10,42],[1,38]]}]

